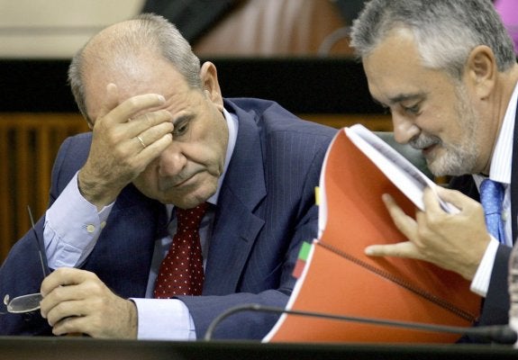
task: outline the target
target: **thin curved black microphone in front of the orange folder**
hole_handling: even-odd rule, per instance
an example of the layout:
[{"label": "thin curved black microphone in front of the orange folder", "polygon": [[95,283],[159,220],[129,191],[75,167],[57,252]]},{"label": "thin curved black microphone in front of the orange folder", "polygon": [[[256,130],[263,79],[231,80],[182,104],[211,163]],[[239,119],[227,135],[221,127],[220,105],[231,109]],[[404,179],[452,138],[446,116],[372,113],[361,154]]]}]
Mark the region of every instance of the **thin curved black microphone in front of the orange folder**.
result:
[{"label": "thin curved black microphone in front of the orange folder", "polygon": [[212,339],[214,329],[218,326],[218,324],[222,320],[228,318],[232,314],[235,314],[235,313],[241,312],[241,311],[273,312],[276,314],[291,314],[291,315],[307,316],[307,317],[321,318],[321,319],[359,322],[359,323],[363,323],[363,324],[381,325],[381,326],[386,326],[386,327],[468,335],[473,338],[485,339],[485,340],[493,341],[493,342],[496,342],[499,344],[514,344],[516,342],[516,339],[518,338],[516,335],[516,332],[513,329],[511,329],[508,325],[493,325],[493,326],[484,326],[484,327],[475,327],[475,328],[462,328],[462,327],[453,327],[453,326],[445,326],[445,325],[424,324],[424,323],[420,323],[420,322],[379,320],[379,319],[361,318],[361,317],[346,316],[346,315],[335,315],[335,314],[328,314],[328,313],[324,313],[324,312],[315,312],[315,311],[286,310],[283,308],[277,308],[277,307],[273,307],[273,306],[250,303],[250,304],[234,306],[234,307],[228,309],[227,311],[223,311],[223,313],[218,315],[211,322],[211,324],[205,331],[204,340],[210,341]]}]

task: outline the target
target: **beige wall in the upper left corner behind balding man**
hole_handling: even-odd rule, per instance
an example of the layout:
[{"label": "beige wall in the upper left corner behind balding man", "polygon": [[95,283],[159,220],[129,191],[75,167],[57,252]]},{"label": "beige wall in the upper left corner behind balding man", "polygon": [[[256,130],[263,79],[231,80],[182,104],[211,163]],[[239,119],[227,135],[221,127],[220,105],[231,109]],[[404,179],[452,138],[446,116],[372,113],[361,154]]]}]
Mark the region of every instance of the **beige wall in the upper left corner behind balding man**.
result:
[{"label": "beige wall in the upper left corner behind balding man", "polygon": [[144,0],[0,0],[0,58],[70,58]]}]

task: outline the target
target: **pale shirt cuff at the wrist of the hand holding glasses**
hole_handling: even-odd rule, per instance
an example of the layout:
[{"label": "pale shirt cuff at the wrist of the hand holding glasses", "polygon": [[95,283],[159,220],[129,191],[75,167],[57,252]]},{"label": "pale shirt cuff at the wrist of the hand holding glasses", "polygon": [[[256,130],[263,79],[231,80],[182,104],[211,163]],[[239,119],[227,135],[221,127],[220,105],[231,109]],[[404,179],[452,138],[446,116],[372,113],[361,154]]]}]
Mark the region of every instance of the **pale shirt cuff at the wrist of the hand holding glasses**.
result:
[{"label": "pale shirt cuff at the wrist of the hand holding glasses", "polygon": [[195,324],[177,299],[130,299],[137,306],[139,340],[195,340]]}]

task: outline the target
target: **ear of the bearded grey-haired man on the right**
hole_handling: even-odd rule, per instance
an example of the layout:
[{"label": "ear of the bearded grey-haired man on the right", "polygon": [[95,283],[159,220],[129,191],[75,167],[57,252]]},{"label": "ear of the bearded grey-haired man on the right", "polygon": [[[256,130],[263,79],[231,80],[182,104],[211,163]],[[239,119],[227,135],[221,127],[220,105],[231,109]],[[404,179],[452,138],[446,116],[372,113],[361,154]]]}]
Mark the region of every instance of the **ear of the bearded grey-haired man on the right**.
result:
[{"label": "ear of the bearded grey-haired man on the right", "polygon": [[498,68],[493,50],[486,45],[472,49],[466,63],[467,81],[477,98],[486,99],[495,88]]}]

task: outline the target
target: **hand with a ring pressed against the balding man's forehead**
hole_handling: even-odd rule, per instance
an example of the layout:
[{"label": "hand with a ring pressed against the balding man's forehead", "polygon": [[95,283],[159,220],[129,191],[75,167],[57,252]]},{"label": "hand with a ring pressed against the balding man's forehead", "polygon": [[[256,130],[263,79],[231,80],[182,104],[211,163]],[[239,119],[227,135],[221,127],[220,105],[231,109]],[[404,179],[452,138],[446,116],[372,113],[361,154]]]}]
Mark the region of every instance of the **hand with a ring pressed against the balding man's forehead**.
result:
[{"label": "hand with a ring pressed against the balding man's forehead", "polygon": [[114,202],[123,187],[171,144],[170,112],[153,110],[163,103],[159,94],[141,94],[119,103],[117,86],[106,86],[90,153],[78,175],[79,191],[98,210]]}]

